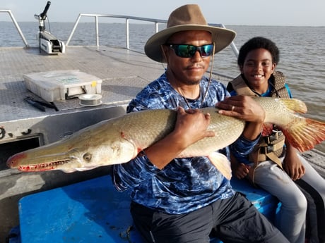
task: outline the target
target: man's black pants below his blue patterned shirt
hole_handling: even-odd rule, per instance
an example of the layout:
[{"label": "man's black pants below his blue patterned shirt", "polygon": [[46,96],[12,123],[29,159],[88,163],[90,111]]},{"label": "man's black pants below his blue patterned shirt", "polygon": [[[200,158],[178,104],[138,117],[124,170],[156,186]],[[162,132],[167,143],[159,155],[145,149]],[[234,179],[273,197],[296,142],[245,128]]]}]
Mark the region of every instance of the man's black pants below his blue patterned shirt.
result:
[{"label": "man's black pants below his blue patterned shirt", "polygon": [[191,213],[177,215],[155,211],[132,202],[131,214],[145,242],[208,243],[212,235],[225,243],[289,243],[239,193]]}]

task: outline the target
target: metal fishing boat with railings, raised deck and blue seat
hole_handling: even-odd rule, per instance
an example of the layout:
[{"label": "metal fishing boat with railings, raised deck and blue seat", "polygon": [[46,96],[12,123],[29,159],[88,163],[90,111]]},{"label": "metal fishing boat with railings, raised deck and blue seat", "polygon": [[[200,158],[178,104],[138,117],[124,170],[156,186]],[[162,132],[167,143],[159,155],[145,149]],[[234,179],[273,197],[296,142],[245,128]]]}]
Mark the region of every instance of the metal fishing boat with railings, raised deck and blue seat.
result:
[{"label": "metal fishing boat with railings, raised deck and blue seat", "polygon": [[[129,216],[129,197],[112,188],[110,166],[69,174],[59,170],[21,173],[7,168],[6,159],[126,113],[129,101],[164,68],[129,47],[129,21],[150,23],[157,32],[167,20],[81,13],[64,43],[65,51],[49,55],[28,44],[10,10],[1,9],[0,13],[11,16],[24,44],[21,48],[0,48],[0,242],[141,242]],[[95,20],[96,44],[70,46],[83,17]],[[99,44],[98,20],[102,18],[125,21],[124,44]],[[235,58],[235,44],[231,48]],[[97,88],[92,92],[101,95],[100,102],[83,104],[78,99],[87,85],[94,86],[93,79],[48,89],[42,80],[30,75],[35,73],[43,77],[63,75],[65,81],[76,73],[92,75]],[[214,72],[213,77],[232,79]],[[312,149],[303,156],[324,177],[325,154]],[[270,194],[235,179],[232,185],[247,194],[262,213],[274,216],[278,201]]]}]

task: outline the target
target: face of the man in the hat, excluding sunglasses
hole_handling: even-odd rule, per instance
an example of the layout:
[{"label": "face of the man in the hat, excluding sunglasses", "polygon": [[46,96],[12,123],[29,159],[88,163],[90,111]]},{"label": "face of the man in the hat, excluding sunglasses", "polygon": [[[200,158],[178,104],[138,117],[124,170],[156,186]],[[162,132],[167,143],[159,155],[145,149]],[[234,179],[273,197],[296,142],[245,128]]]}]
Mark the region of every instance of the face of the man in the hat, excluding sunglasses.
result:
[{"label": "face of the man in the hat, excluding sunglasses", "polygon": [[[177,32],[167,44],[191,44],[193,46],[203,46],[212,44],[211,33],[204,30],[189,30]],[[211,56],[201,57],[199,51],[194,56],[180,57],[175,54],[175,50],[164,46],[167,58],[167,76],[172,82],[182,82],[185,85],[196,85],[201,81],[201,77],[208,69]]]}]

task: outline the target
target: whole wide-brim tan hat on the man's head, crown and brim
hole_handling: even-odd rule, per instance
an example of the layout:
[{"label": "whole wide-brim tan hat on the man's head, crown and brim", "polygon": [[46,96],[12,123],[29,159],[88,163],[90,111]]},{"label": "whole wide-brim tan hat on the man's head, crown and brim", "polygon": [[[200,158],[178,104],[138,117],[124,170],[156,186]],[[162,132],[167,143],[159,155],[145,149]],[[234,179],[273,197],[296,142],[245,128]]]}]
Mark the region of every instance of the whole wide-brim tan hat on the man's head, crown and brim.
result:
[{"label": "whole wide-brim tan hat on the man's head, crown and brim", "polygon": [[199,5],[187,4],[172,11],[167,21],[167,27],[148,39],[144,46],[146,55],[154,61],[165,63],[160,46],[166,44],[167,39],[176,32],[185,30],[211,32],[212,41],[215,44],[215,53],[225,49],[236,36],[236,32],[233,30],[208,25]]}]

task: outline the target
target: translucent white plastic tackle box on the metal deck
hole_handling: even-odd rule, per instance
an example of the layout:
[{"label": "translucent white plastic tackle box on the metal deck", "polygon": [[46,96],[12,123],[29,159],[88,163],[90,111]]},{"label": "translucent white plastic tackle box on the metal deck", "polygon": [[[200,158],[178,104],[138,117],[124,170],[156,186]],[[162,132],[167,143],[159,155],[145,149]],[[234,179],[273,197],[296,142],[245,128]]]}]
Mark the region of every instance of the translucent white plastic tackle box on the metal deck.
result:
[{"label": "translucent white plastic tackle box on the metal deck", "polygon": [[25,85],[45,101],[64,100],[80,94],[100,94],[102,80],[79,70],[54,70],[23,75]]}]

